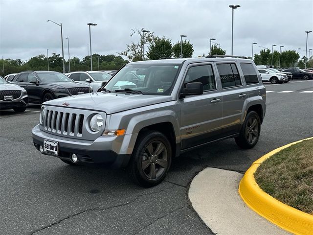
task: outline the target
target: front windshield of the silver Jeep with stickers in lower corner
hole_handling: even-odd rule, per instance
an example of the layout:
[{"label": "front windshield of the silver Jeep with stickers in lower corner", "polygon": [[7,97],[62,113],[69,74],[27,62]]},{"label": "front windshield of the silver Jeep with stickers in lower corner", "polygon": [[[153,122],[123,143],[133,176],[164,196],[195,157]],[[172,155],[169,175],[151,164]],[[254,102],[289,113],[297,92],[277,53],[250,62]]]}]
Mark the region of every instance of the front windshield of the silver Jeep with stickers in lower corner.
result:
[{"label": "front windshield of the silver Jeep with stickers in lower corner", "polygon": [[170,95],[180,64],[127,65],[105,86],[106,90],[132,89],[142,94]]}]

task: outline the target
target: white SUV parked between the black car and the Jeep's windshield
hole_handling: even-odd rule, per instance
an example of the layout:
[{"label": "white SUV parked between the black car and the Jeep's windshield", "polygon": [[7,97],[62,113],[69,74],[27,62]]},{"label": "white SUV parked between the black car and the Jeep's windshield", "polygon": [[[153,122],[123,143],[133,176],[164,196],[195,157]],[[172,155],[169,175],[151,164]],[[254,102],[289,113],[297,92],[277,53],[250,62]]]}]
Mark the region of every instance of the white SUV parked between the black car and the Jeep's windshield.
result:
[{"label": "white SUV parked between the black car and the Jeep's windshield", "polygon": [[100,91],[101,87],[112,77],[104,71],[76,71],[66,75],[75,82],[89,85],[94,92]]}]

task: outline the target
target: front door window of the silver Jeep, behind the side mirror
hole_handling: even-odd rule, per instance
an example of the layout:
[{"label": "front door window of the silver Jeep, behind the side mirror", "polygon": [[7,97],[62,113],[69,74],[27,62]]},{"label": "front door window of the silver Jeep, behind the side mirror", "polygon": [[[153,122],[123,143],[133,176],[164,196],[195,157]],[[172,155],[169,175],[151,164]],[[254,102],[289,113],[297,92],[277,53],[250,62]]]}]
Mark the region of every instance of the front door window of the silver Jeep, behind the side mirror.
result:
[{"label": "front door window of the silver Jeep, behind the side mirror", "polygon": [[184,86],[190,82],[201,82],[203,84],[203,91],[216,89],[215,77],[211,65],[201,65],[191,67],[187,71]]}]

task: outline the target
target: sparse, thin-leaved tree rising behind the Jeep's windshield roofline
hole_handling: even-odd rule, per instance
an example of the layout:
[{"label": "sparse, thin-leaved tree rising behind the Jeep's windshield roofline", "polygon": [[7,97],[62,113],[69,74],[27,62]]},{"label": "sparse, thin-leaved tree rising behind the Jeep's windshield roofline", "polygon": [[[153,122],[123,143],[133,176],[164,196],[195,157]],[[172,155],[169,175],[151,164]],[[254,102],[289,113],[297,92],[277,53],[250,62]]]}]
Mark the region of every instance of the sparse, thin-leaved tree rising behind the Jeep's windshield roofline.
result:
[{"label": "sparse, thin-leaved tree rising behind the Jeep's windshield roofline", "polygon": [[[131,37],[134,34],[140,35],[140,40],[138,43],[132,42],[131,44],[126,45],[126,49],[122,52],[117,52],[119,55],[125,55],[130,61],[140,61],[143,58],[143,46],[154,40],[154,32],[141,32],[142,29],[132,29]],[[142,34],[141,34],[142,33]]]}]

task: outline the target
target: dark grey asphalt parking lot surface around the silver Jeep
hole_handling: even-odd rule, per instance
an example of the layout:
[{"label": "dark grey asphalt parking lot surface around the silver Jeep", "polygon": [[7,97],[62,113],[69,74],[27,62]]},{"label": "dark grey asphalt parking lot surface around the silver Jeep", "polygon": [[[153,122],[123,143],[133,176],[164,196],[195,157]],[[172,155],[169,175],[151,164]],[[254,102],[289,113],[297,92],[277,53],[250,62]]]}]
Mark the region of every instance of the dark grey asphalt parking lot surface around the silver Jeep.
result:
[{"label": "dark grey asphalt parking lot surface around the silver Jeep", "polygon": [[154,188],[134,185],[125,170],[70,166],[40,154],[31,139],[40,106],[1,111],[0,234],[212,234],[187,197],[201,169],[243,173],[270,150],[313,136],[313,81],[265,86],[267,112],[253,149],[230,139],[185,153]]}]

